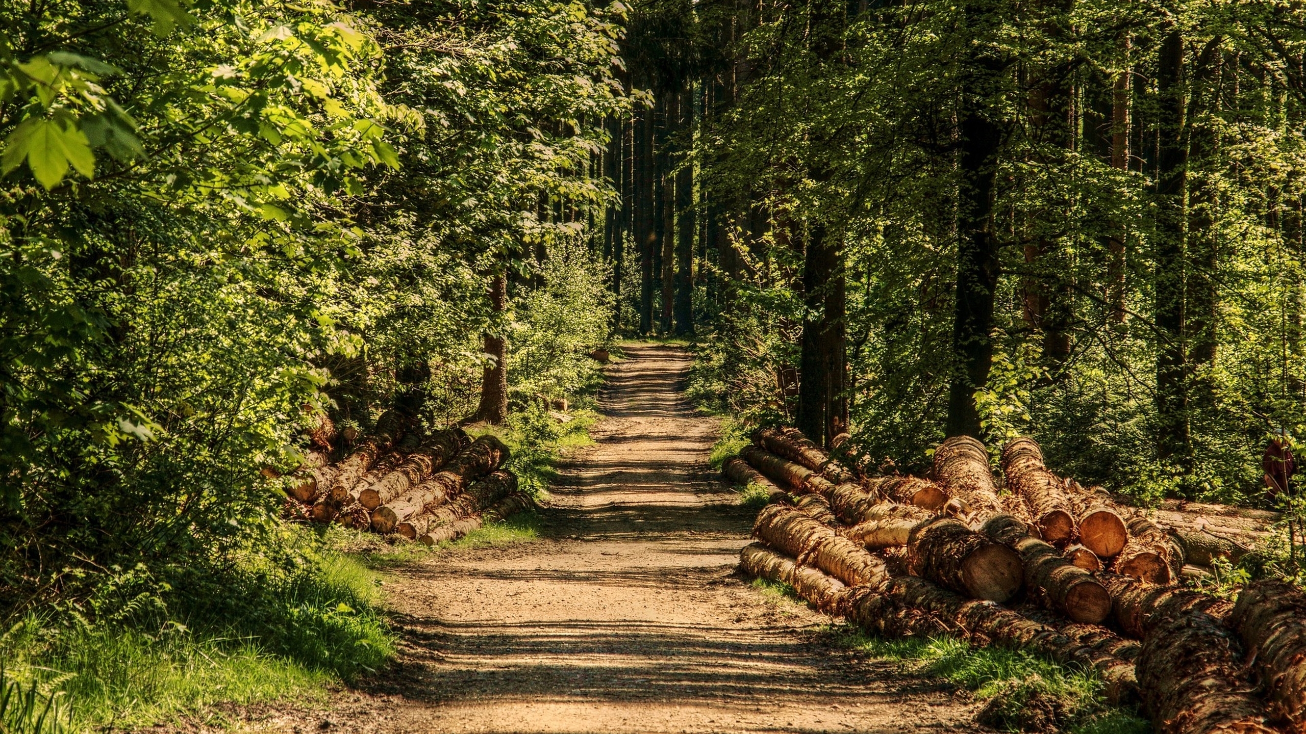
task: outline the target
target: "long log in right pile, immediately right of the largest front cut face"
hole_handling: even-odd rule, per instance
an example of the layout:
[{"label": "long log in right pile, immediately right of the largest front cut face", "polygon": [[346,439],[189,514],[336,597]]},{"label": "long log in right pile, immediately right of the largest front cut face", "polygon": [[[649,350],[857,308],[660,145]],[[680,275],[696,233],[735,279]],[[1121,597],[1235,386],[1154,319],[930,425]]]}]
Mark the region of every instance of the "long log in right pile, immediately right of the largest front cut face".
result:
[{"label": "long log in right pile, immediately right of the largest front cut face", "polygon": [[1062,558],[1051,545],[1029,537],[1025,524],[1011,515],[995,515],[983,534],[1020,554],[1025,582],[1046,594],[1053,609],[1075,622],[1097,624],[1111,613],[1111,596],[1087,571]]}]

